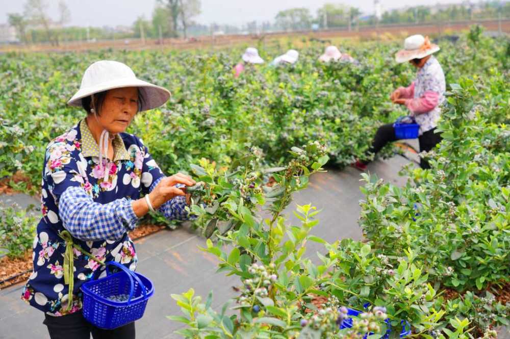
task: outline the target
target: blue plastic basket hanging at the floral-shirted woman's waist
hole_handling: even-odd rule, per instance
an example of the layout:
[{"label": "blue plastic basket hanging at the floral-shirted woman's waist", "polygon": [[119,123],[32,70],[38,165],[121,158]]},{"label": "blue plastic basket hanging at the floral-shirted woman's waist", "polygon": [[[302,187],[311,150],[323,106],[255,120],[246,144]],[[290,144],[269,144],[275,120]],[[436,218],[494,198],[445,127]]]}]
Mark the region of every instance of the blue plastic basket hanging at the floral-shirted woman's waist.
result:
[{"label": "blue plastic basket hanging at the floral-shirted woman's waist", "polygon": [[[114,329],[142,318],[148,299],[154,294],[152,282],[143,275],[127,269],[116,262],[106,263],[104,278],[85,282],[83,292],[83,316],[92,325]],[[121,271],[110,274],[109,266]],[[129,295],[124,302],[109,297]]]}]

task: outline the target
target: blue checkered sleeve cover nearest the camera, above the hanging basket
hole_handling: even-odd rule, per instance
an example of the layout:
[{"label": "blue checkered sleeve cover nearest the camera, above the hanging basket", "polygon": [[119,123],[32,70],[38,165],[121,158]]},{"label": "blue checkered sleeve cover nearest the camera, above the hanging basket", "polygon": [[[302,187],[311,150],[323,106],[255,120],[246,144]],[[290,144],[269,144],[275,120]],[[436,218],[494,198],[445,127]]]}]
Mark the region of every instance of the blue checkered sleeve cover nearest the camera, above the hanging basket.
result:
[{"label": "blue checkered sleeve cover nearest the camera, above the hanging basket", "polygon": [[138,221],[131,199],[101,204],[81,187],[69,187],[60,196],[59,215],[71,236],[84,241],[120,240]]}]

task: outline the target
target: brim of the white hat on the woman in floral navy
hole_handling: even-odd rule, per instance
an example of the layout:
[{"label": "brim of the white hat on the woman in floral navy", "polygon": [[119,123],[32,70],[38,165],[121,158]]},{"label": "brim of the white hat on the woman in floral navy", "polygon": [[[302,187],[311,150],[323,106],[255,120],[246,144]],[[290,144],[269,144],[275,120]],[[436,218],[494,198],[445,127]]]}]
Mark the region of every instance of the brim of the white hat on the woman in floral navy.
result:
[{"label": "brim of the white hat on the woman in floral navy", "polygon": [[81,107],[82,99],[95,93],[111,90],[114,88],[138,87],[142,96],[142,106],[140,111],[152,110],[164,105],[170,98],[170,91],[166,88],[156,86],[146,81],[136,78],[116,79],[109,82],[97,84],[95,86],[80,88],[72,98],[67,102],[70,106]]}]

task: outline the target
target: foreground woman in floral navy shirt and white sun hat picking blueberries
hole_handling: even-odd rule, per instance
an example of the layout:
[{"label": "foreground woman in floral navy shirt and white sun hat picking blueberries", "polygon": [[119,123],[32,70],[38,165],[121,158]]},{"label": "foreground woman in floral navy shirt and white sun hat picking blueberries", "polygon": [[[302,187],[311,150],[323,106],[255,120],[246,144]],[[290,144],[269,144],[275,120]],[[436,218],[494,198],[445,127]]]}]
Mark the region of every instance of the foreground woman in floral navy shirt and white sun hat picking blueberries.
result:
[{"label": "foreground woman in floral navy shirt and white sun hat picking blueberries", "polygon": [[91,333],[94,339],[135,337],[134,323],[114,330],[89,324],[81,312],[80,286],[104,276],[101,263],[110,260],[135,270],[127,232],[149,211],[188,218],[183,187],[195,181],[180,173],[166,177],[142,141],[125,133],[137,112],[162,106],[169,97],[168,90],[137,79],[128,66],[98,61],[68,102],[87,116],[46,148],[34,272],[21,296],[45,313],[52,339],[89,339]]}]

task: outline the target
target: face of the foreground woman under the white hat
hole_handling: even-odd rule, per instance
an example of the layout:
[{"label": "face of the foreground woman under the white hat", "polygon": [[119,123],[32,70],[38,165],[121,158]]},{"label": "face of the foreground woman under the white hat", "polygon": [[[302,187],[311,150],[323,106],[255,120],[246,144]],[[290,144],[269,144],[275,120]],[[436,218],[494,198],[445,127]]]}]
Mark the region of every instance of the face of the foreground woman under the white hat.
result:
[{"label": "face of the foreground woman under the white hat", "polygon": [[125,132],[138,112],[138,88],[111,89],[106,93],[97,119],[111,134]]}]

